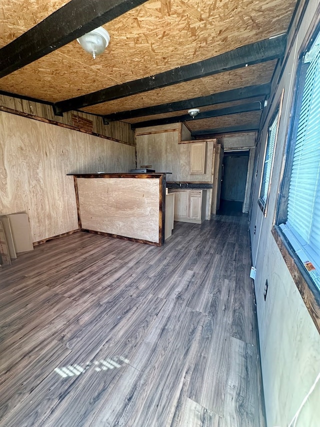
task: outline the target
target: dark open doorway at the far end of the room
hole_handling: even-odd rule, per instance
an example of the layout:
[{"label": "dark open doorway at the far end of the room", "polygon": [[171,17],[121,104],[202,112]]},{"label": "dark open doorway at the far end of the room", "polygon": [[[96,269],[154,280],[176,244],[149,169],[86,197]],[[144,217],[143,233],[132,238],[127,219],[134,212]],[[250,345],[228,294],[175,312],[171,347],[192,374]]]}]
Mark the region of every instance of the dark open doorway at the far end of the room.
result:
[{"label": "dark open doorway at the far end of the room", "polygon": [[249,151],[226,151],[223,154],[219,214],[242,214]]}]

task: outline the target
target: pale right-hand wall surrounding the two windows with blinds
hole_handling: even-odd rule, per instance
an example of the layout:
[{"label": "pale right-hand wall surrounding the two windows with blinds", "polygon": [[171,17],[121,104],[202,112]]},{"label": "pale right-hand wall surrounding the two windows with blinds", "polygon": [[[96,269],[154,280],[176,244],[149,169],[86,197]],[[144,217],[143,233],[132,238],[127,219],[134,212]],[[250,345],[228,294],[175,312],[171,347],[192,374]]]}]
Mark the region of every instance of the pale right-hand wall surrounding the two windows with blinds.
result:
[{"label": "pale right-hand wall surrounding the two windows with blinds", "polygon": [[[261,136],[258,174],[254,188],[250,237],[252,263],[256,267],[254,288],[261,349],[261,365],[268,427],[290,424],[320,372],[320,335],[309,315],[281,253],[271,235],[276,198],[283,167],[298,53],[315,16],[319,1],[308,2],[298,36],[290,52]],[[294,29],[294,25],[292,26]],[[267,126],[284,89],[275,159],[271,176],[267,216],[257,204]],[[256,231],[254,233],[254,228]],[[268,281],[266,300],[264,285]],[[301,407],[296,427],[319,425],[320,381]]]}]

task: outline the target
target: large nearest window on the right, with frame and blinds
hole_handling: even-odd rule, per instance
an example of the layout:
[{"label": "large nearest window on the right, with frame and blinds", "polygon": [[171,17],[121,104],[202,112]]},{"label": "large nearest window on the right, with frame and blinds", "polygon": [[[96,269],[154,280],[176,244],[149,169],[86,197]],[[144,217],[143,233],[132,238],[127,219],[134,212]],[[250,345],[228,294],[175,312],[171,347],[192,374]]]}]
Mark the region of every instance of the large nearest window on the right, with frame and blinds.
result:
[{"label": "large nearest window on the right, with frame and blinds", "polygon": [[278,224],[320,290],[320,37],[304,53],[298,83]]}]

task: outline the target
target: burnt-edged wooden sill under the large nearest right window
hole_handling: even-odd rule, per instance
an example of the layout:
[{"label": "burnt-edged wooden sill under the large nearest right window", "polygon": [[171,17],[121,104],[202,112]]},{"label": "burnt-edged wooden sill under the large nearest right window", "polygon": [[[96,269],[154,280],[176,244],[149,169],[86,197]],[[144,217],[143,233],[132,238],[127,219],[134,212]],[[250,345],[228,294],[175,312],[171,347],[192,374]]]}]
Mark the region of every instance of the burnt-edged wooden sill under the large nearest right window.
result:
[{"label": "burnt-edged wooden sill under the large nearest right window", "polygon": [[302,262],[292,250],[281,229],[277,225],[274,225],[271,233],[313,323],[320,333],[320,293],[310,279]]}]

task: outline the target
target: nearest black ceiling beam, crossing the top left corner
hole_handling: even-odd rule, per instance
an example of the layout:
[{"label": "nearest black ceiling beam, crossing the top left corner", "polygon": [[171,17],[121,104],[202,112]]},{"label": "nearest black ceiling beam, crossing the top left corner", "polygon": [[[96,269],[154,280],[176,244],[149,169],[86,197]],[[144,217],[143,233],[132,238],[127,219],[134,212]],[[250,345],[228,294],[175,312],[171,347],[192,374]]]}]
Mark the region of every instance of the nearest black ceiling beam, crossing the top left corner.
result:
[{"label": "nearest black ceiling beam, crossing the top left corner", "polygon": [[72,42],[146,0],[70,0],[0,49],[0,78]]}]

